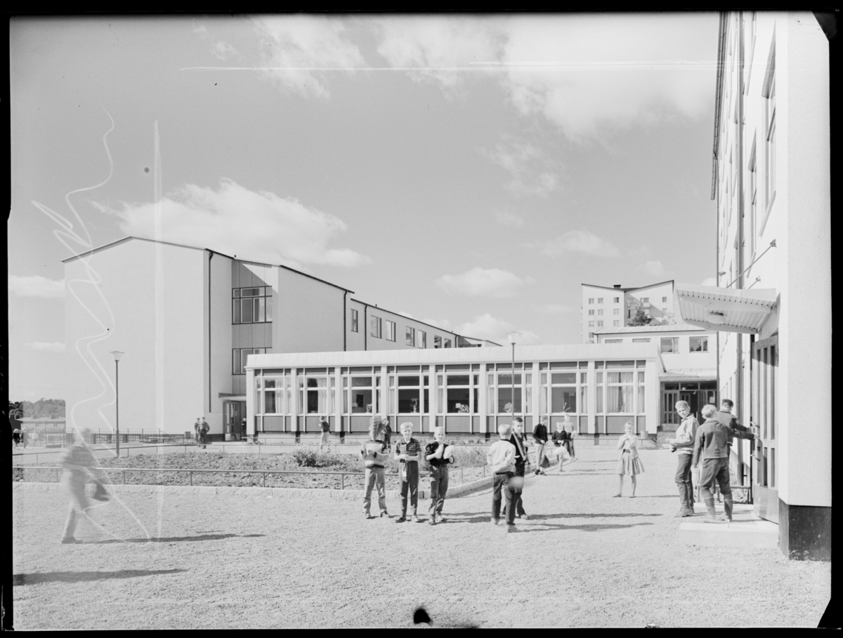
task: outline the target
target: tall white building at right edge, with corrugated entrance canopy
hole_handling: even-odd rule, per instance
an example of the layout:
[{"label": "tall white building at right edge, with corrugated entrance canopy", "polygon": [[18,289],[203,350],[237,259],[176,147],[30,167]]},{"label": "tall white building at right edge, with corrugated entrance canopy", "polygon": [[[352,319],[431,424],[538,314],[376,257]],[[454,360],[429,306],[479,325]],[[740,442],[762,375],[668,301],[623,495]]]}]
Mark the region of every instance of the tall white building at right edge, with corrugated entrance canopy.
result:
[{"label": "tall white building at right edge, with corrugated entrance canopy", "polygon": [[794,559],[831,558],[829,40],[813,13],[721,14],[711,199],[717,286],[677,284],[718,334],[755,512]]}]

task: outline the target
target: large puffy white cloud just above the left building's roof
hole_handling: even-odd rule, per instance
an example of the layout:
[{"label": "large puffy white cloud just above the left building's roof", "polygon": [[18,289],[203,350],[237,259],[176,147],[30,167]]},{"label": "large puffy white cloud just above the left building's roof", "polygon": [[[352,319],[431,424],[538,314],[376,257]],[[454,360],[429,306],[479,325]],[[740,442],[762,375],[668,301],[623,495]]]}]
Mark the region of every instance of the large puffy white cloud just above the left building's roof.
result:
[{"label": "large puffy white cloud just above the left building's roof", "polygon": [[[155,237],[155,205],[122,203],[119,210],[94,205],[115,215],[127,235]],[[160,210],[160,239],[164,241],[295,268],[371,263],[349,248],[328,247],[346,231],[346,224],[334,215],[308,208],[297,199],[255,193],[230,179],[224,179],[218,189],[182,186],[164,197]]]}]

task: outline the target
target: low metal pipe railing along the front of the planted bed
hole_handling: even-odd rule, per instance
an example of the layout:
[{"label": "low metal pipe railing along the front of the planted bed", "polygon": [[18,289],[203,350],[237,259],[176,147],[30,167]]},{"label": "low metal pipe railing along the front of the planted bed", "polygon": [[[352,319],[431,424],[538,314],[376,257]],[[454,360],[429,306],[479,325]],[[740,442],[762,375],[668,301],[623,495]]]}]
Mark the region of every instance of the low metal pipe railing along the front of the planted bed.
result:
[{"label": "low metal pipe railing along the front of the planted bed", "polygon": [[[30,481],[25,481],[24,477],[24,470],[30,471],[29,478]],[[98,467],[94,468],[96,471],[103,472],[106,475],[110,474],[120,474],[121,475],[121,484],[126,485],[126,472],[128,473],[142,473],[142,472],[155,472],[158,475],[165,474],[165,473],[175,473],[176,476],[186,476],[186,483],[170,483],[169,485],[194,485],[194,475],[209,475],[209,474],[245,474],[245,475],[260,475],[261,481],[260,486],[266,487],[266,476],[276,476],[276,475],[298,475],[298,476],[335,476],[339,477],[339,489],[344,490],[346,489],[346,476],[349,479],[353,479],[353,483],[362,483],[363,477],[366,476],[364,472],[320,472],[320,471],[295,471],[295,470],[190,470],[190,469],[175,469],[175,468],[166,468],[166,469],[157,469],[157,468],[136,468],[136,467]],[[451,474],[456,478],[459,476],[459,483],[452,482],[451,485],[458,486],[464,485],[465,483],[465,471],[469,471],[469,481],[475,481],[478,478],[486,476],[486,465],[469,465],[466,467],[459,467],[454,468],[451,471]],[[32,476],[49,476],[53,481],[43,481],[43,480],[32,480]],[[388,474],[386,475],[387,478],[396,479],[399,478],[398,473],[395,474]],[[422,478],[429,478],[429,473],[419,473],[419,480],[421,481]],[[14,465],[12,469],[12,481],[20,481],[20,482],[54,482],[57,483],[61,481],[62,478],[62,468],[61,467],[43,467],[40,465]],[[336,479],[335,479],[336,481]],[[114,481],[111,481],[114,482]],[[142,485],[164,485],[164,483],[141,483]],[[251,484],[251,486],[255,486]]]}]

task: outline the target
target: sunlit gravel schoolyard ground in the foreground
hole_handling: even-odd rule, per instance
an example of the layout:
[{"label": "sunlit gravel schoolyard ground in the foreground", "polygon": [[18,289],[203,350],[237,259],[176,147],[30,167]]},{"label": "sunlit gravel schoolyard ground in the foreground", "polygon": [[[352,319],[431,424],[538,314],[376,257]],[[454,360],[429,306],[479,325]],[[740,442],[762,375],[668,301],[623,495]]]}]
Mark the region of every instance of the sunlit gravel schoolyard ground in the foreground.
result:
[{"label": "sunlit gravel schoolyard ground in the foreground", "polygon": [[419,607],[433,626],[818,624],[829,563],[686,546],[673,455],[642,450],[633,499],[611,497],[614,451],[577,454],[529,479],[515,534],[489,523],[489,491],[448,500],[431,527],[366,520],[354,501],[115,486],[91,513],[102,527],[61,545],[62,492],[14,490],[15,628],[411,627]]}]

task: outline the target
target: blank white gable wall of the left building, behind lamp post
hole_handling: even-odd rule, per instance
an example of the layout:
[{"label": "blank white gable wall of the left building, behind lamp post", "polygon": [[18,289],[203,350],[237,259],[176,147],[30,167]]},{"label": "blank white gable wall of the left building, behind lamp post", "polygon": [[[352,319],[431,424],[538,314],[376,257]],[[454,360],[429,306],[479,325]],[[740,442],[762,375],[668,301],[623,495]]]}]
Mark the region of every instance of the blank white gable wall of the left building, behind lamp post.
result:
[{"label": "blank white gable wall of the left building, behind lamp post", "polygon": [[121,429],[184,432],[207,413],[204,254],[129,239],[65,264],[68,426],[115,425],[111,350]]}]

